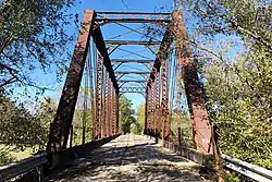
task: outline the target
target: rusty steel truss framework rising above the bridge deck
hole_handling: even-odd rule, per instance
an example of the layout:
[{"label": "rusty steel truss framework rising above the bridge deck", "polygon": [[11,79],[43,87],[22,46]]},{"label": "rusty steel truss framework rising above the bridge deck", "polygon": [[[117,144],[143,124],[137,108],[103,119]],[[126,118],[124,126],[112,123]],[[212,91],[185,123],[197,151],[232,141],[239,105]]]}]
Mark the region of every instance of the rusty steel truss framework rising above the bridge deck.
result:
[{"label": "rusty steel truss framework rising above the bridge deck", "polygon": [[[162,40],[104,40],[101,26],[110,23],[153,23],[165,26]],[[78,34],[55,119],[51,124],[48,151],[67,147],[70,131],[83,72],[91,53],[96,56],[96,85],[92,100],[92,138],[98,139],[120,133],[119,97],[125,93],[139,93],[146,98],[145,134],[171,138],[169,119],[170,49],[174,47],[178,66],[182,69],[188,108],[191,113],[194,142],[202,153],[213,153],[212,129],[205,108],[203,92],[189,46],[182,12],[95,12],[85,10],[82,29]],[[126,26],[126,25],[125,25]],[[89,51],[91,44],[95,50]],[[111,54],[126,45],[159,46],[153,60],[111,58]],[[125,63],[146,64],[147,71],[119,71]],[[89,65],[90,66],[90,65]],[[125,75],[140,75],[125,80]],[[125,86],[138,83],[138,87]],[[104,112],[107,110],[107,112]]]}]

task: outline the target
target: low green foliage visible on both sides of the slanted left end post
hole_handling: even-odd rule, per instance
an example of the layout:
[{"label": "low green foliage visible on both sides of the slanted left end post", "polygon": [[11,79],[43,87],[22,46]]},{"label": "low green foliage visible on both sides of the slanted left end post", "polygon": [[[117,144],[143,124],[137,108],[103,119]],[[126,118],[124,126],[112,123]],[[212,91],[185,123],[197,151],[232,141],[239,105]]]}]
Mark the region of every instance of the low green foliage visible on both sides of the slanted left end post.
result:
[{"label": "low green foliage visible on both sides of the slanted left end post", "polygon": [[[91,110],[84,109],[84,90],[78,94],[73,118],[73,145],[82,144],[83,121],[86,124],[86,142],[91,138]],[[35,108],[26,109],[16,105],[8,96],[0,97],[0,163],[15,160],[16,153],[27,150],[30,154],[44,150],[48,142],[49,125],[54,119],[57,104],[45,98]],[[32,112],[29,110],[33,110]],[[85,116],[84,116],[85,114]],[[14,157],[13,157],[14,156]]]}]

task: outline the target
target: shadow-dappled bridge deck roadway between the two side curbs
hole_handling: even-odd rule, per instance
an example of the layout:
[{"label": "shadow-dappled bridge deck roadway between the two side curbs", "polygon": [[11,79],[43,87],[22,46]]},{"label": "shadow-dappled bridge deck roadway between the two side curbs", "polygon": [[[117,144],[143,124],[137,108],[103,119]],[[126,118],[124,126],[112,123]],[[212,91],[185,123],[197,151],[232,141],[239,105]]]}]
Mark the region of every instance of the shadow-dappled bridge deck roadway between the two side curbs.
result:
[{"label": "shadow-dappled bridge deck roadway between the two side curbs", "polygon": [[50,182],[86,181],[194,181],[205,182],[200,167],[154,144],[147,136],[121,135],[63,172]]}]

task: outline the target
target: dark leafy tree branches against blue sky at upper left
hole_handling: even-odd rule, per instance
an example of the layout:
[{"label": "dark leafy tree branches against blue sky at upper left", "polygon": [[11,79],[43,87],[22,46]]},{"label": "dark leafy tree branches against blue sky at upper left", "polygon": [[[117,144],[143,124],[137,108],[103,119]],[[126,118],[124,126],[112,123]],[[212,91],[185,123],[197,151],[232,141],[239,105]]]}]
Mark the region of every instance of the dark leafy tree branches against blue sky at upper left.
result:
[{"label": "dark leafy tree branches against blue sky at upper left", "polygon": [[0,88],[9,93],[12,84],[37,87],[30,78],[37,68],[65,70],[66,46],[73,38],[65,29],[73,23],[71,5],[73,0],[0,1]]}]

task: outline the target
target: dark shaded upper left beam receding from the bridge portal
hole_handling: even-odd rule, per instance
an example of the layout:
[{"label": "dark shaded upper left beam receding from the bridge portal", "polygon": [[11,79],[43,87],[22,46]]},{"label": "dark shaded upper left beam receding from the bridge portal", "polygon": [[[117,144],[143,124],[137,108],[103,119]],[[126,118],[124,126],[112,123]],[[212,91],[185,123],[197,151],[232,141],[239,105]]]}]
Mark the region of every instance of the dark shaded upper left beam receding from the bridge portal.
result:
[{"label": "dark shaded upper left beam receding from the bridge portal", "polygon": [[106,66],[107,71],[109,72],[109,76],[111,78],[111,82],[113,83],[113,86],[114,86],[114,88],[115,88],[115,90],[118,93],[119,92],[119,85],[118,85],[118,82],[116,82],[116,78],[115,78],[115,75],[114,75],[114,71],[113,71],[112,65],[111,65],[111,60],[110,60],[109,53],[107,51],[106,44],[104,44],[103,36],[102,36],[100,27],[99,26],[96,27],[91,32],[91,34],[92,34],[92,39],[96,43],[97,50],[103,57],[103,65]]}]

